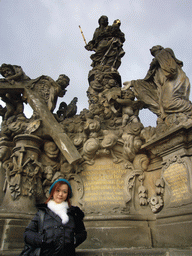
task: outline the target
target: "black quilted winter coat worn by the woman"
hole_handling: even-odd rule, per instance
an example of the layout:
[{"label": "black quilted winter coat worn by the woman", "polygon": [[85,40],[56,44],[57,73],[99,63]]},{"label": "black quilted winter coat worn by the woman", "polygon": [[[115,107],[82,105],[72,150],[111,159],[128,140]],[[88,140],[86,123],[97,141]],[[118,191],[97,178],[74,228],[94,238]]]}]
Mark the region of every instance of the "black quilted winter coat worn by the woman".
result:
[{"label": "black quilted winter coat worn by the woman", "polygon": [[83,223],[84,213],[79,207],[71,206],[67,211],[69,221],[63,224],[61,218],[46,204],[39,205],[38,208],[45,211],[43,234],[38,233],[38,211],[25,230],[25,242],[41,247],[41,256],[74,256],[75,247],[87,237]]}]

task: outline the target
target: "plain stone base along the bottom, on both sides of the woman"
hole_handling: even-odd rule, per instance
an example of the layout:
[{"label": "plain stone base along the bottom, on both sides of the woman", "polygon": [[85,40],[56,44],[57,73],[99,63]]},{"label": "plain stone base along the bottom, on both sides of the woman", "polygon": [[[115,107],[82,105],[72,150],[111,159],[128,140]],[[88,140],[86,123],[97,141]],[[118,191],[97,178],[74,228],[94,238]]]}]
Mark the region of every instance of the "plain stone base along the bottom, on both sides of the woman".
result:
[{"label": "plain stone base along the bottom, on both sides of the woman", "polygon": [[[136,215],[87,216],[87,240],[77,248],[77,255],[167,255],[167,252],[190,255],[191,250],[187,248],[192,246],[191,216],[191,213],[158,216],[156,220]],[[0,214],[0,255],[15,256],[21,252],[23,233],[32,217],[32,214]]]}]

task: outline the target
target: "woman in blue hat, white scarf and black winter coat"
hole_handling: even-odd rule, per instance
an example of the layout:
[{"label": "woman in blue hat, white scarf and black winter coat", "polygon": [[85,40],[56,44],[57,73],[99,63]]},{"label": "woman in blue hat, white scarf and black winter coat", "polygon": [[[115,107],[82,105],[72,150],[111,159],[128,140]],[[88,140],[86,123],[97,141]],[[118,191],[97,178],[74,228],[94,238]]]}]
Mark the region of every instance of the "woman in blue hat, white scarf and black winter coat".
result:
[{"label": "woman in blue hat, white scarf and black winter coat", "polygon": [[38,206],[45,211],[43,234],[38,233],[40,214],[37,212],[25,230],[27,244],[41,248],[41,256],[73,256],[75,247],[85,241],[87,232],[83,224],[84,213],[79,207],[71,206],[70,183],[65,179],[55,181],[49,190],[45,204]]}]

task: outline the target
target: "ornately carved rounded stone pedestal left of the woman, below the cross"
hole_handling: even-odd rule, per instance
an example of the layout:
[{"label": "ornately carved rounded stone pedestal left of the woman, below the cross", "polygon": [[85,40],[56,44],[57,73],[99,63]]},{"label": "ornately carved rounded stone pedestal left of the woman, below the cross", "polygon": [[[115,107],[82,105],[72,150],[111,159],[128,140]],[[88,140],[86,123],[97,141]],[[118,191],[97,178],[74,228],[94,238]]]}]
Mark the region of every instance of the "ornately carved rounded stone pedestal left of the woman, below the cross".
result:
[{"label": "ornately carved rounded stone pedestal left of the woman, below the cross", "polygon": [[[35,196],[33,186],[36,180],[32,174],[35,170],[35,163],[38,160],[42,140],[34,135],[18,135],[14,138],[13,148],[13,169],[7,171],[6,193],[3,199],[0,212],[35,213]],[[31,166],[28,166],[32,162]],[[14,172],[14,175],[11,173]],[[31,194],[25,188],[30,189]],[[13,187],[11,189],[11,186]],[[13,192],[14,189],[14,192]]]}]

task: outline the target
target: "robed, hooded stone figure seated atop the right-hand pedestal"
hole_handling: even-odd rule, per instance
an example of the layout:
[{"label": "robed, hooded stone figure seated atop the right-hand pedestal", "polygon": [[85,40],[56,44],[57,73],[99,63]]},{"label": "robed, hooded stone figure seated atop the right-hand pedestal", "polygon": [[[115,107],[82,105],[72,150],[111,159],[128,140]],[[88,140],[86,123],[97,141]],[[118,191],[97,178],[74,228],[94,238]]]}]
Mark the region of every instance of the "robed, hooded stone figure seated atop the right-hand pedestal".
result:
[{"label": "robed, hooded stone figure seated atop the right-hand pedestal", "polygon": [[[160,45],[150,49],[154,56],[144,79],[125,82],[145,108],[157,115],[156,136],[181,124],[191,123],[190,82],[182,70],[183,62],[170,48]],[[148,130],[148,132],[151,132]]]}]

